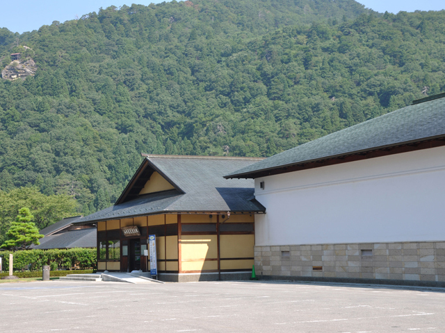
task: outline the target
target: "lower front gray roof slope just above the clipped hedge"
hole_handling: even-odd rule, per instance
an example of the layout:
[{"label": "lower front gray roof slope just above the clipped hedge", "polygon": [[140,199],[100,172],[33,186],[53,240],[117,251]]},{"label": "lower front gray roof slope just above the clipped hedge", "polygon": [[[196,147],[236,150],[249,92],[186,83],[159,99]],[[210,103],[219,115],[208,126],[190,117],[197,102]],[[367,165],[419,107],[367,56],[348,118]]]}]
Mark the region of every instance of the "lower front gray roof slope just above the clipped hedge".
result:
[{"label": "lower front gray roof slope just above the clipped hedge", "polygon": [[49,248],[95,248],[97,246],[97,229],[79,229],[51,234],[40,239],[40,245],[32,248],[48,250]]}]

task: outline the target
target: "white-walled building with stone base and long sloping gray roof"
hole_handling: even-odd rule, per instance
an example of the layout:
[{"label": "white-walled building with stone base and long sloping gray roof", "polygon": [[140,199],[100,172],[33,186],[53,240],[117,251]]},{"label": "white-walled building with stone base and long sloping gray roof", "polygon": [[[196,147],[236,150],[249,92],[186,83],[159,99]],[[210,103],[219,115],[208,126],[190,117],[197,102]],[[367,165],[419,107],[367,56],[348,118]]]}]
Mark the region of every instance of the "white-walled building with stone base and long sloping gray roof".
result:
[{"label": "white-walled building with stone base and long sloping gray roof", "polygon": [[445,94],[225,178],[254,179],[267,209],[263,278],[445,285]]}]

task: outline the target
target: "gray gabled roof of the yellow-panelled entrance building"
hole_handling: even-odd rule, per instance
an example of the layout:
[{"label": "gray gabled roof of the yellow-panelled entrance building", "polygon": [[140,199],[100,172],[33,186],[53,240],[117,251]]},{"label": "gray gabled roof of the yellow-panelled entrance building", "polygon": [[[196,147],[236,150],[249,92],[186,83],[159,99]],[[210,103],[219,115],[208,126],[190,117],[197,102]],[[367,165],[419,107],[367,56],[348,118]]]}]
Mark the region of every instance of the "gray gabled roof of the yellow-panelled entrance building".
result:
[{"label": "gray gabled roof of the yellow-panelled entrance building", "polygon": [[[77,223],[168,212],[265,212],[254,199],[253,180],[223,176],[262,160],[252,157],[144,155],[129,185],[112,207],[83,217]],[[138,195],[154,171],[175,189]]]}]

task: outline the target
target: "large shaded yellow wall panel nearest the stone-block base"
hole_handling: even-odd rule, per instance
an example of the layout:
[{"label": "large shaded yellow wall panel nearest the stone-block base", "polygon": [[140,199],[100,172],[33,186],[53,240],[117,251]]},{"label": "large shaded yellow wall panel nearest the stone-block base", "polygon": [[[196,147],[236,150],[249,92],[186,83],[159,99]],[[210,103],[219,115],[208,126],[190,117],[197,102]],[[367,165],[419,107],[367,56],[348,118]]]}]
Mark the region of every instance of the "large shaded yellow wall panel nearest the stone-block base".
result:
[{"label": "large shaded yellow wall panel nearest the stone-block base", "polygon": [[254,256],[254,234],[221,234],[221,258],[245,258]]}]

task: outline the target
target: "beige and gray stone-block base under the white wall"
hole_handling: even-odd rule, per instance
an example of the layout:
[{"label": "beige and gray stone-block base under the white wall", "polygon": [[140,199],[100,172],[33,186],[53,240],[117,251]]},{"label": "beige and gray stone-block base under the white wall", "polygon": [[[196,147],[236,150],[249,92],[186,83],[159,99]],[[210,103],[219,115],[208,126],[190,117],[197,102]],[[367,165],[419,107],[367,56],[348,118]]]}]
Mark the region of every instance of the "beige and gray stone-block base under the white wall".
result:
[{"label": "beige and gray stone-block base under the white wall", "polygon": [[255,246],[255,270],[265,279],[398,280],[442,286],[445,241]]}]

